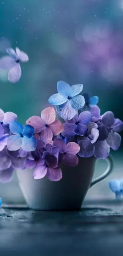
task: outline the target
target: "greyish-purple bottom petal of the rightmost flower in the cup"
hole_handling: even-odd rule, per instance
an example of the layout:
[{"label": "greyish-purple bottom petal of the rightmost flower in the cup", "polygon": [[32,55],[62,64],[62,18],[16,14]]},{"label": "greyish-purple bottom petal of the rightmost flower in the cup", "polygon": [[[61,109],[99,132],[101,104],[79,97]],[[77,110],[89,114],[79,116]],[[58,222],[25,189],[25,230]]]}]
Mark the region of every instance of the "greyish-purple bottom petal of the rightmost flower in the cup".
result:
[{"label": "greyish-purple bottom petal of the rightmost flower in the cup", "polygon": [[110,132],[108,137],[107,137],[107,144],[113,149],[113,150],[118,150],[121,144],[121,136],[120,134],[114,132]]}]

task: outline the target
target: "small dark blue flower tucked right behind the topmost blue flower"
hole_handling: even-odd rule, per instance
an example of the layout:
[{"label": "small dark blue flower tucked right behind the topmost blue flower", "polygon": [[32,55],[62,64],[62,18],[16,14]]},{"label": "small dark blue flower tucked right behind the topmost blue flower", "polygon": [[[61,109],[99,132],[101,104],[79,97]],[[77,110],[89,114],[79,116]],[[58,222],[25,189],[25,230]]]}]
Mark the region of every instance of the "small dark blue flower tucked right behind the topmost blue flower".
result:
[{"label": "small dark blue flower tucked right behind the topmost blue flower", "polygon": [[95,106],[98,104],[98,101],[99,101],[98,96],[89,97],[88,93],[84,93],[83,96],[85,98],[85,105],[82,110],[84,110],[84,111],[90,110],[91,106]]}]

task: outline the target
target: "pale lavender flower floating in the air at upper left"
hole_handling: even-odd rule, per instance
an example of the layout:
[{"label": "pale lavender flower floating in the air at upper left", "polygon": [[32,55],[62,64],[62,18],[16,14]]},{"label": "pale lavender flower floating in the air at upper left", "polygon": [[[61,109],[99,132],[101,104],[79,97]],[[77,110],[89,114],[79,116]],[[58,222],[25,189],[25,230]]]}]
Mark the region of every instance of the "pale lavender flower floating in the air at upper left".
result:
[{"label": "pale lavender flower floating in the air at upper left", "polygon": [[20,51],[18,47],[16,47],[16,52],[12,48],[8,48],[6,51],[9,56],[4,56],[0,59],[0,69],[9,70],[9,82],[16,83],[21,77],[20,62],[27,62],[29,58],[27,54]]}]

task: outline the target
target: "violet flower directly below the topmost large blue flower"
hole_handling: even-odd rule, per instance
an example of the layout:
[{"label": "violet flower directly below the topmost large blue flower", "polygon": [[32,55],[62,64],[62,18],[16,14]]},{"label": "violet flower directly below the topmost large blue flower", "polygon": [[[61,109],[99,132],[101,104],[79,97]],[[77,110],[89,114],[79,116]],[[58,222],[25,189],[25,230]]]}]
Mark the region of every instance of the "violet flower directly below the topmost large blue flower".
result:
[{"label": "violet flower directly below the topmost large blue flower", "polygon": [[79,116],[77,113],[73,119],[63,124],[64,130],[62,135],[64,137],[72,137],[76,134],[80,136],[85,135],[90,119],[91,113],[89,111],[81,112]]}]

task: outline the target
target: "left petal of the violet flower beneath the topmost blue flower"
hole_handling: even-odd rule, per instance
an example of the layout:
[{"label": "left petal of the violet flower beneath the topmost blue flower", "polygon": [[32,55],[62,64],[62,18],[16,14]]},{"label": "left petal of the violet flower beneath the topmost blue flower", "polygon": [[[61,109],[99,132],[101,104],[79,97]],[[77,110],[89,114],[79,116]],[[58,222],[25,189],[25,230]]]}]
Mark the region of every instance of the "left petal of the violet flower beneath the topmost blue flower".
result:
[{"label": "left petal of the violet flower beneath the topmost blue flower", "polygon": [[63,123],[64,130],[62,132],[62,136],[64,137],[73,137],[75,135],[75,127],[74,123]]}]

